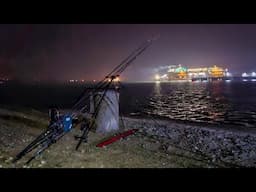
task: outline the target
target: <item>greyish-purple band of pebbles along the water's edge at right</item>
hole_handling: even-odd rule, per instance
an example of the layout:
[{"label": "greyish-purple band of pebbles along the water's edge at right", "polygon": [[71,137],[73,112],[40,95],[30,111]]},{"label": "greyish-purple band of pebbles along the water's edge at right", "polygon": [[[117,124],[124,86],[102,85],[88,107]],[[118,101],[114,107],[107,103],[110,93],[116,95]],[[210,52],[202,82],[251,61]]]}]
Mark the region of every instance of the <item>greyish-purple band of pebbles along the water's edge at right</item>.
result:
[{"label": "greyish-purple band of pebbles along the water's edge at right", "polygon": [[[207,125],[183,124],[168,120],[123,118],[126,128],[138,128],[149,136],[206,155],[212,162],[231,166],[256,167],[256,132]],[[168,147],[167,147],[168,149]]]}]

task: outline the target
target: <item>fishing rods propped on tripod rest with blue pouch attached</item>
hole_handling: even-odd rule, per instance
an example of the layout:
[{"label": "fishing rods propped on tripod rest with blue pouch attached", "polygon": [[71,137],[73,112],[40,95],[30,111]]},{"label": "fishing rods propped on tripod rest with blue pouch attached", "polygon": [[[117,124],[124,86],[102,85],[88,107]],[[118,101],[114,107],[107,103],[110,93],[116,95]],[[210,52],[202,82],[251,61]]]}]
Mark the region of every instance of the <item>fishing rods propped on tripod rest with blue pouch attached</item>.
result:
[{"label": "fishing rods propped on tripod rest with blue pouch attached", "polygon": [[[122,73],[136,59],[137,56],[141,55],[152,44],[153,40],[155,39],[152,38],[150,40],[147,40],[145,43],[143,43],[141,46],[135,49],[126,59],[124,59],[119,65],[117,65],[103,80],[97,83],[92,91],[86,89],[73,105],[71,115],[64,114],[61,117],[58,117],[53,124],[49,125],[43,133],[41,133],[36,139],[34,139],[29,145],[27,145],[25,149],[18,153],[14,158],[13,162],[20,160],[29,152],[35,150],[36,148],[39,148],[37,152],[34,153],[34,155],[26,162],[26,164],[29,164],[33,159],[42,154],[52,144],[56,143],[59,139],[61,139],[74,126],[76,126],[76,124],[79,123],[75,122],[75,118],[77,117],[75,110],[80,110],[80,112],[83,112],[83,110],[86,109],[84,105],[82,107],[80,105],[83,101],[86,101],[86,99],[90,97],[88,93],[91,92],[92,94],[95,94],[99,90],[103,89],[103,94],[101,95],[100,101],[98,102],[98,105],[96,106],[96,109],[92,116],[93,119],[96,119],[100,109],[100,105],[106,95],[106,91],[111,86],[113,81],[117,77],[119,77],[120,73]],[[72,121],[72,119],[74,121]],[[76,150],[78,150],[82,141],[85,139],[85,137],[87,136],[90,129],[94,126],[94,124],[95,122],[92,121],[90,123],[90,126],[87,129],[83,130],[82,136],[79,137],[79,142],[76,146]]]}]

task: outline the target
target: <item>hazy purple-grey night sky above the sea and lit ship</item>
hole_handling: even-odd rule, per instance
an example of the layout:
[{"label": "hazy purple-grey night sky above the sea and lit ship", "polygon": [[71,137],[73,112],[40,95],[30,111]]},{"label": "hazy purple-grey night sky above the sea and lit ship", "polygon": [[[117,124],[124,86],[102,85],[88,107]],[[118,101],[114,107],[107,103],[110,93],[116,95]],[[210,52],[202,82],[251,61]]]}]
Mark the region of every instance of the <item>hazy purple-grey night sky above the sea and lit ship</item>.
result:
[{"label": "hazy purple-grey night sky above the sea and lit ship", "polygon": [[159,66],[256,71],[255,24],[0,25],[0,77],[101,80],[138,45],[160,35],[122,78],[150,80]]}]

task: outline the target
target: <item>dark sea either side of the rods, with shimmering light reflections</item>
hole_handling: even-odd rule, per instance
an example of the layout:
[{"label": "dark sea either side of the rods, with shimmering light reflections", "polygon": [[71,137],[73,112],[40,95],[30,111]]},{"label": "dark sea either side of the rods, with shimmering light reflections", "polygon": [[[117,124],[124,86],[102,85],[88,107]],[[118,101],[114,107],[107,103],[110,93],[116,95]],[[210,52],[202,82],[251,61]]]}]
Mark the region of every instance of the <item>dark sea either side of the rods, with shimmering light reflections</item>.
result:
[{"label": "dark sea either side of the rods, with shimmering light reflections", "polygon": [[[0,84],[0,104],[46,111],[70,108],[86,85]],[[225,123],[256,128],[256,82],[126,83],[120,94],[123,115]]]}]

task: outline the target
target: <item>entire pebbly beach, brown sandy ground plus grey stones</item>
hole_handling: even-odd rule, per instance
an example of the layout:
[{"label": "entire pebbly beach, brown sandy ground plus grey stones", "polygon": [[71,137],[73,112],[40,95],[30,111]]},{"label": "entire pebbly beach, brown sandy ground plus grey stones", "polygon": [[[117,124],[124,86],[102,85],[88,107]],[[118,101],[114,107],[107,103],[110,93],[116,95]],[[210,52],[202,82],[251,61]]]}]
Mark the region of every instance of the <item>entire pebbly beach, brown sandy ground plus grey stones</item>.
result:
[{"label": "entire pebbly beach, brown sandy ground plus grey stones", "polygon": [[[92,132],[81,151],[75,151],[74,135],[79,135],[80,131],[74,128],[30,167],[256,167],[254,130],[245,132],[163,119],[122,119],[126,130],[137,128],[138,131],[104,149],[95,145],[114,133]],[[18,164],[12,164],[11,160],[45,129],[47,121],[47,115],[35,110],[1,109],[0,168],[22,167],[23,160]]]}]

